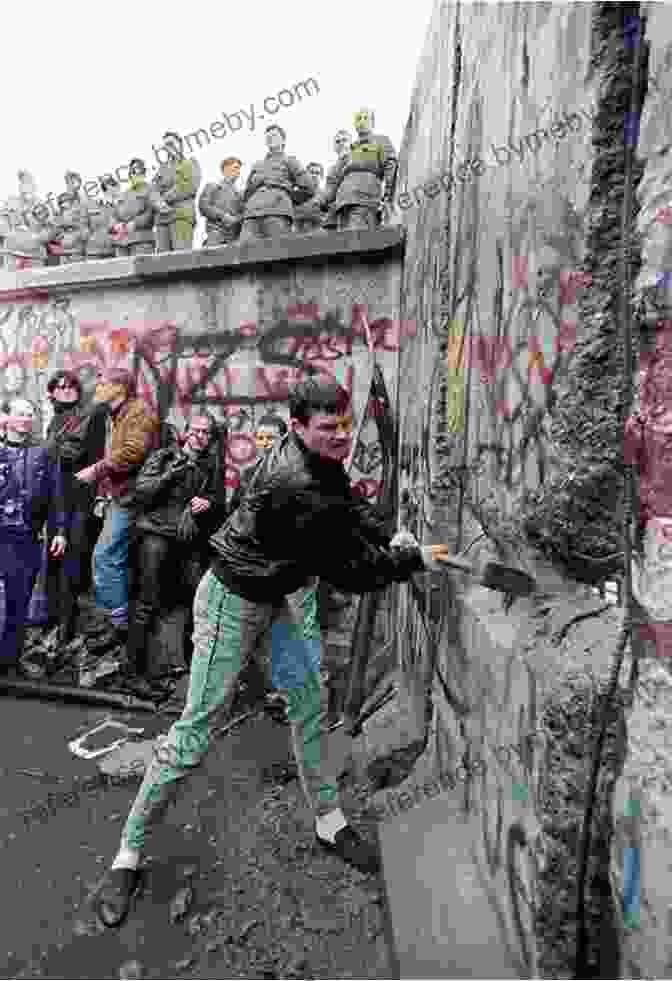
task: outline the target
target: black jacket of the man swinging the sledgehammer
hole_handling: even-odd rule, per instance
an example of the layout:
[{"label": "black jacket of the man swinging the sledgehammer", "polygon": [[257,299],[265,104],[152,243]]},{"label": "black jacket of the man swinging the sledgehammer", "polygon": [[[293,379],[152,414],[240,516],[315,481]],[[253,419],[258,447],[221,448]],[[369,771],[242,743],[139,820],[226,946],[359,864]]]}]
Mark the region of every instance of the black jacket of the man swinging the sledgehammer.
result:
[{"label": "black jacket of the man swinging the sledgehammer", "polygon": [[368,593],[424,568],[418,549],[389,550],[384,522],[353,493],[343,465],[293,433],[265,456],[210,544],[215,576],[258,603],[280,602],[313,576]]}]

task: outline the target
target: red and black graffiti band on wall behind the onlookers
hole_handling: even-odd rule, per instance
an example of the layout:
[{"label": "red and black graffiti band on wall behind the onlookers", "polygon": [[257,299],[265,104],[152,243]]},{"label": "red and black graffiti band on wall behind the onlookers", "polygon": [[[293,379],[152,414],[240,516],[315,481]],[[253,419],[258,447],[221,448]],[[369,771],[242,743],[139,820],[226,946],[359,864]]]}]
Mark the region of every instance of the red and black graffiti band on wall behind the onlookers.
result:
[{"label": "red and black graffiti band on wall behind the onlookers", "polygon": [[[292,382],[324,374],[353,395],[367,317],[361,304],[352,304],[346,322],[340,311],[322,315],[309,302],[288,306],[263,328],[245,322],[232,331],[194,333],[169,320],[79,321],[68,297],[10,303],[0,312],[0,397],[26,395],[47,410],[47,381],[58,368],[75,371],[90,395],[100,372],[129,367],[139,395],[162,422],[184,424],[197,407],[226,422],[226,480],[235,488],[256,456],[257,418],[287,402]],[[368,326],[381,361],[414,333],[412,323],[389,317]],[[378,417],[384,404],[371,398],[362,405],[366,420],[353,465],[356,490],[371,499],[382,481]]]}]

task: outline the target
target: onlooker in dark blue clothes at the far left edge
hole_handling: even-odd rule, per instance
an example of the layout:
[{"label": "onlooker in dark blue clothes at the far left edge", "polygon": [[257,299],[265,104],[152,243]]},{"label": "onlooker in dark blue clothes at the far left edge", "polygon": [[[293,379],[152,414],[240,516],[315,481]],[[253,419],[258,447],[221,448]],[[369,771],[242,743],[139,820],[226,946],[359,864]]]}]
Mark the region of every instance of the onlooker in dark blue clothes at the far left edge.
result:
[{"label": "onlooker in dark blue clothes at the far left edge", "polygon": [[57,461],[33,445],[35,407],[9,403],[6,442],[0,446],[0,672],[18,666],[30,597],[40,568],[40,533],[61,559],[67,546],[63,480]]}]

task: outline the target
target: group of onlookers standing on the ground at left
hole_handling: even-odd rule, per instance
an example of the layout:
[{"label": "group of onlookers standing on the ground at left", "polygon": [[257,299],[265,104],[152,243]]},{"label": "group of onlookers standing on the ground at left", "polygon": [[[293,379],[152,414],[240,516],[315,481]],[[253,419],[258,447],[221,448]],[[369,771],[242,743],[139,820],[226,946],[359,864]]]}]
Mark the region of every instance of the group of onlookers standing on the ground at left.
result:
[{"label": "group of onlookers standing on the ground at left", "polygon": [[[187,610],[186,667],[208,539],[237,507],[251,471],[227,502],[215,419],[199,412],[182,433],[161,426],[124,369],[99,378],[88,406],[69,371],[51,377],[48,395],[53,417],[43,439],[31,402],[15,398],[0,407],[0,669],[22,673],[29,606],[46,563],[39,581],[59,645],[75,637],[78,600],[93,586],[95,606],[126,651],[125,690],[151,698],[148,651],[157,615],[171,604]],[[262,418],[259,451],[284,432],[280,416]]]}]

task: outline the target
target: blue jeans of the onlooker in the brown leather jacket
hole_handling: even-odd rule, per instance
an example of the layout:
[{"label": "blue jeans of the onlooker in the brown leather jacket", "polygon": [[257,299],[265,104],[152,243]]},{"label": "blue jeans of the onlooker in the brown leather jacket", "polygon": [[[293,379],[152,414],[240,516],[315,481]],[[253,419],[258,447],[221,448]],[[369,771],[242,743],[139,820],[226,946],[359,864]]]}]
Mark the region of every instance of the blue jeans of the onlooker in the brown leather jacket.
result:
[{"label": "blue jeans of the onlooker in the brown leather jacket", "polygon": [[130,513],[110,501],[103,530],[93,552],[96,603],[115,626],[128,624],[128,539]]}]

